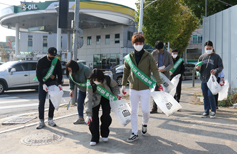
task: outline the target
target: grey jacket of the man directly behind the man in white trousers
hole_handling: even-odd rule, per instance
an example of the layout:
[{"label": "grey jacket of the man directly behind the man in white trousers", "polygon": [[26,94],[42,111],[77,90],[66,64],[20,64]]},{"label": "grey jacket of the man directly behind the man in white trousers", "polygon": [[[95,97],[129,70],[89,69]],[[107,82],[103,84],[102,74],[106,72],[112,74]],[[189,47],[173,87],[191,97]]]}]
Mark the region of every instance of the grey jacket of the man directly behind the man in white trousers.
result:
[{"label": "grey jacket of the man directly behind the man in white trousers", "polygon": [[[156,63],[158,63],[159,61],[159,51],[158,50],[154,50],[151,55],[154,57],[154,60]],[[165,66],[165,72],[163,72],[163,74],[165,74],[165,76],[170,79],[170,69],[173,67],[174,63],[172,60],[172,56],[171,54],[164,50],[164,57],[163,57],[163,65]]]}]

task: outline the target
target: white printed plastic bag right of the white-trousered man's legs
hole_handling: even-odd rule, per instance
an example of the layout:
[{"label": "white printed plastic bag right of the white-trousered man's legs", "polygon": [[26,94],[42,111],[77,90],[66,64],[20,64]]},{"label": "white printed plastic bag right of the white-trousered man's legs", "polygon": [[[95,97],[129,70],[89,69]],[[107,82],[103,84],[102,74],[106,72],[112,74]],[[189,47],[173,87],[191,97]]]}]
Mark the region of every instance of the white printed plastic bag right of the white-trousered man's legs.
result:
[{"label": "white printed plastic bag right of the white-trousered man's legs", "polygon": [[182,106],[171,96],[164,91],[153,91],[151,96],[157,106],[167,115],[170,116],[174,112],[182,108]]}]

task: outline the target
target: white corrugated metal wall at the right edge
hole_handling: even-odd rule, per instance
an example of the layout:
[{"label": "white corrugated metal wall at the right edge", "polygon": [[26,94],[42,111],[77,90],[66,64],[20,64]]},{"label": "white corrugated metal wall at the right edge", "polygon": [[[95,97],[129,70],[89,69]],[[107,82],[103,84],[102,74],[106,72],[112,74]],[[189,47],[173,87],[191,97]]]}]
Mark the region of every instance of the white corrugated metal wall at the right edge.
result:
[{"label": "white corrugated metal wall at the right edge", "polygon": [[[222,57],[225,78],[237,88],[237,5],[203,19],[203,45],[210,40]],[[204,47],[203,47],[204,53]]]}]

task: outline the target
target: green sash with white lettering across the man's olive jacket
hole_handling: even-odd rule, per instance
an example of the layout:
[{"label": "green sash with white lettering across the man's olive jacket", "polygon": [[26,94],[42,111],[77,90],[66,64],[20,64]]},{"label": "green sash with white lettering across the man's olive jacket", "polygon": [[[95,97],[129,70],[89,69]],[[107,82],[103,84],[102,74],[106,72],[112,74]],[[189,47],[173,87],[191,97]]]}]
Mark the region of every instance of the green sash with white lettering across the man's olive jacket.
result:
[{"label": "green sash with white lettering across the man's olive jacket", "polygon": [[143,73],[141,70],[139,70],[132,62],[130,54],[124,57],[124,59],[127,61],[128,65],[130,66],[133,73],[136,75],[138,79],[140,79],[142,82],[144,82],[147,86],[150,88],[153,88],[156,86],[156,81],[153,81],[150,77],[148,77],[145,73]]}]

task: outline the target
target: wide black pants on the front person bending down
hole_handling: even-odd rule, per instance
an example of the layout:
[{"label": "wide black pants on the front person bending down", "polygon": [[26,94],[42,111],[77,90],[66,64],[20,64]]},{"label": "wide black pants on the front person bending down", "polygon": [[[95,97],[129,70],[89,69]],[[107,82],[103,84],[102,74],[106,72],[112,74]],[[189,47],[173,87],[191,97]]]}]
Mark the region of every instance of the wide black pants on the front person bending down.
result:
[{"label": "wide black pants on the front person bending down", "polygon": [[108,137],[109,136],[109,126],[112,122],[112,118],[110,116],[110,104],[109,100],[101,97],[100,104],[94,108],[92,108],[92,122],[89,125],[89,129],[92,135],[91,142],[99,142],[100,139],[100,130],[99,130],[99,109],[100,105],[102,106],[102,116],[101,120],[101,136]]}]

